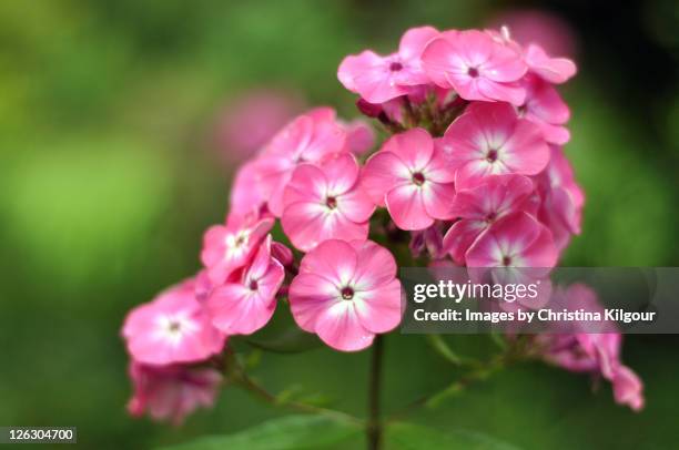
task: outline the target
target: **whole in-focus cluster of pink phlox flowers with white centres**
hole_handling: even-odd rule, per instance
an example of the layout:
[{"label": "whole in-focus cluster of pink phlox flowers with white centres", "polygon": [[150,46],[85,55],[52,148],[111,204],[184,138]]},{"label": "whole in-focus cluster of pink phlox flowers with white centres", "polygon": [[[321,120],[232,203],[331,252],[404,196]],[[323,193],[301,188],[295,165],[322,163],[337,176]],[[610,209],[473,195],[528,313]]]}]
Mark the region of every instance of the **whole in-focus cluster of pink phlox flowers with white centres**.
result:
[{"label": "whole in-focus cluster of pink phlox flowers with white centres", "polygon": [[229,336],[276,308],[334,349],[371,346],[401,321],[402,246],[432,265],[555,266],[584,204],[555,88],[575,72],[506,30],[414,28],[395,53],[346,57],[340,82],[391,136],[374,150],[365,123],[318,108],[240,167],[201,270],[125,319],[130,410],[210,405]]}]

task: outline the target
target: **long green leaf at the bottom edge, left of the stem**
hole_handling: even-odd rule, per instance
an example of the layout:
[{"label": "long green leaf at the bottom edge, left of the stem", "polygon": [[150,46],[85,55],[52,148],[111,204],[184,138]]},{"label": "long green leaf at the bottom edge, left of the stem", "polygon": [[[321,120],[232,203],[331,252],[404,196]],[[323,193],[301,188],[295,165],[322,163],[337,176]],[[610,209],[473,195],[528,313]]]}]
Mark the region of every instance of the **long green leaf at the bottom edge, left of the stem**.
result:
[{"label": "long green leaf at the bottom edge, left of the stem", "polygon": [[227,436],[210,436],[164,450],[302,450],[345,442],[363,433],[348,420],[322,416],[287,416]]}]

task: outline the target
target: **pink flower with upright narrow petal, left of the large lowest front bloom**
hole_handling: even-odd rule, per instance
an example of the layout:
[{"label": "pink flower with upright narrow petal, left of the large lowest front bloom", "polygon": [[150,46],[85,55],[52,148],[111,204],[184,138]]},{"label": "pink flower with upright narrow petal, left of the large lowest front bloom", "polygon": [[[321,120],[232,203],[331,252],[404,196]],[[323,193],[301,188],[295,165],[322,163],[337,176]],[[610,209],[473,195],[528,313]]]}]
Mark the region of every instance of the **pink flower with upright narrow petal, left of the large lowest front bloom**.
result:
[{"label": "pink flower with upright narrow petal, left of the large lowest front bloom", "polygon": [[237,282],[215,288],[206,307],[212,324],[227,335],[251,335],[268,323],[276,293],[285,278],[283,265],[271,256],[271,235]]}]

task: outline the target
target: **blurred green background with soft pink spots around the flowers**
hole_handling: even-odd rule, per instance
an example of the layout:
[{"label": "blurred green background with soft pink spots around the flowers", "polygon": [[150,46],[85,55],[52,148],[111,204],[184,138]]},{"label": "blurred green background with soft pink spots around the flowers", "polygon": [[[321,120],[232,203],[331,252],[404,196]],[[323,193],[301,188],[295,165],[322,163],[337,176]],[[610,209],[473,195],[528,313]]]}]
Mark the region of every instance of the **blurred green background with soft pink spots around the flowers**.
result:
[{"label": "blurred green background with soft pink spots around the flowers", "polygon": [[[345,54],[392,51],[413,25],[498,22],[544,33],[580,69],[563,93],[587,205],[564,265],[679,265],[672,0],[0,2],[0,425],[78,426],[80,447],[146,449],[282,415],[225,389],[181,428],[129,418],[125,311],[199,268],[202,232],[223,219],[235,167],[266,133],[241,112],[268,111],[275,124],[330,104],[354,117],[335,75]],[[646,382],[639,415],[608,386],[536,362],[413,420],[526,449],[678,448],[678,345],[626,339],[624,360]],[[422,348],[417,336],[387,338],[387,411],[455,377]],[[366,362],[327,349],[265,355],[254,375],[363,415]]]}]

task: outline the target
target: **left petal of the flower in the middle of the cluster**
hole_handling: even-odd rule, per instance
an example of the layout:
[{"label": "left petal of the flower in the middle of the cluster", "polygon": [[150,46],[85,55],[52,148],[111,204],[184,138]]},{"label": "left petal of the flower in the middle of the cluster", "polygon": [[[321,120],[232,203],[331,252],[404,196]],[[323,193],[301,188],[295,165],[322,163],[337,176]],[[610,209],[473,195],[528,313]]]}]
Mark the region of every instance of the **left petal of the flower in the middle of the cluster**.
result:
[{"label": "left petal of the flower in the middle of the cluster", "polygon": [[411,171],[398,156],[381,151],[367,160],[361,185],[376,205],[384,206],[387,192],[412,184],[411,177]]}]

